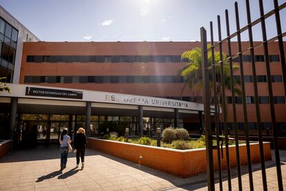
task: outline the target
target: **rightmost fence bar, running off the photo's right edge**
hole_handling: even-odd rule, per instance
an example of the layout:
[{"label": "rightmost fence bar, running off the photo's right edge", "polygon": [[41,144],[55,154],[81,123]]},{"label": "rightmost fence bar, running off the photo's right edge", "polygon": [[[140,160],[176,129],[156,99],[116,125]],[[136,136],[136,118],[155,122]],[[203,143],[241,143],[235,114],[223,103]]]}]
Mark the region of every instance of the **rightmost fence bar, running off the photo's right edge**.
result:
[{"label": "rightmost fence bar, running off the photo's right edge", "polygon": [[283,77],[283,85],[284,85],[284,96],[286,97],[285,52],[284,52],[284,46],[283,46],[283,37],[281,35],[282,31],[281,31],[280,14],[279,14],[279,8],[278,8],[278,1],[277,0],[274,0],[274,12],[275,12],[275,19],[276,19],[278,46],[279,46],[279,51],[280,51],[280,62],[281,62],[281,68],[282,68],[282,77]]}]

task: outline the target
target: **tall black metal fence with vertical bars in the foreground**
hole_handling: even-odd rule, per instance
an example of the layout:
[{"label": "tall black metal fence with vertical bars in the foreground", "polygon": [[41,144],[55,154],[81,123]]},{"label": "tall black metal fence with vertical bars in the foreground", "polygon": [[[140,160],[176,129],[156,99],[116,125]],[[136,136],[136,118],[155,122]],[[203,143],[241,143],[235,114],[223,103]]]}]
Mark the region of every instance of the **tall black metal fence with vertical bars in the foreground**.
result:
[{"label": "tall black metal fence with vertical bars in the foreground", "polygon": [[[267,0],[268,1],[268,0]],[[224,76],[224,64],[227,63],[230,68],[230,92],[232,100],[235,100],[236,92],[235,89],[237,84],[234,83],[233,79],[233,59],[238,59],[239,62],[239,72],[240,72],[240,91],[241,91],[241,99],[242,99],[242,108],[243,113],[239,113],[244,117],[244,133],[245,133],[245,142],[247,145],[247,167],[248,167],[248,176],[249,176],[249,190],[254,190],[254,178],[252,175],[252,165],[251,165],[251,152],[250,152],[250,145],[249,145],[249,129],[248,129],[248,114],[247,114],[247,102],[246,102],[246,93],[245,93],[245,78],[244,78],[244,70],[243,70],[243,63],[242,63],[242,55],[245,53],[250,53],[251,57],[251,71],[253,75],[253,84],[254,84],[254,103],[256,108],[256,125],[258,127],[258,140],[259,140],[259,148],[260,148],[260,163],[261,163],[261,172],[262,172],[262,184],[263,189],[267,190],[267,176],[265,171],[265,158],[264,158],[264,150],[263,150],[263,129],[261,125],[261,118],[260,118],[260,106],[258,100],[258,80],[256,75],[256,60],[254,56],[254,50],[256,48],[263,48],[264,52],[264,60],[265,60],[265,68],[266,68],[266,75],[267,75],[267,89],[269,95],[269,108],[271,113],[271,127],[272,127],[272,136],[273,136],[273,143],[274,143],[274,153],[275,153],[275,161],[276,161],[276,172],[277,172],[277,181],[278,181],[278,188],[279,190],[283,190],[283,181],[282,181],[282,174],[281,174],[281,167],[280,167],[280,155],[278,149],[278,136],[277,136],[277,129],[276,129],[276,113],[274,109],[274,99],[273,99],[273,89],[271,84],[271,73],[270,73],[270,66],[269,66],[269,48],[268,45],[271,42],[278,42],[278,47],[280,51],[280,66],[283,76],[283,87],[284,87],[284,96],[286,96],[286,64],[285,64],[285,52],[283,47],[283,37],[285,37],[286,33],[282,33],[281,31],[281,18],[280,18],[280,10],[283,10],[286,7],[286,3],[278,5],[278,0],[274,0],[274,9],[267,12],[265,14],[263,8],[263,0],[259,0],[259,9],[260,9],[260,18],[256,19],[255,21],[251,21],[251,10],[249,8],[249,0],[246,0],[246,13],[247,13],[247,25],[240,28],[240,18],[238,14],[238,3],[235,3],[235,15],[236,15],[236,32],[230,34],[229,32],[229,13],[228,10],[225,10],[225,23],[226,23],[226,32],[227,37],[222,39],[221,35],[221,26],[220,26],[220,16],[218,16],[218,42],[216,44],[213,42],[213,23],[210,22],[210,36],[211,36],[211,47],[207,47],[207,32],[202,27],[200,29],[201,33],[201,42],[202,42],[202,79],[204,81],[203,93],[204,93],[204,126],[205,126],[205,134],[206,134],[206,147],[207,147],[207,180],[209,190],[215,190],[215,180],[214,180],[214,170],[213,170],[213,157],[218,157],[218,178],[219,178],[219,185],[220,190],[222,190],[222,171],[221,171],[221,164],[220,164],[220,147],[213,147],[213,140],[216,140],[217,145],[219,145],[220,140],[225,141],[225,149],[226,149],[226,158],[227,158],[227,181],[228,181],[228,189],[232,190],[231,188],[231,167],[229,161],[229,134],[227,131],[227,102],[226,102],[226,91],[225,91],[225,76]],[[277,28],[277,35],[271,39],[267,39],[267,31],[265,26],[265,19],[271,17],[272,15],[275,16],[276,19],[276,28]],[[284,22],[286,21],[285,18]],[[261,32],[263,41],[254,44],[253,40],[253,33],[252,28],[257,24],[261,25]],[[241,33],[248,32],[249,36],[249,47],[242,50],[242,42],[241,42]],[[237,53],[232,52],[233,46],[231,46],[231,39],[233,37],[237,38]],[[224,54],[222,53],[222,44],[226,44],[227,46],[227,58],[224,58]],[[233,48],[234,49],[234,48]],[[236,48],[235,48],[236,49]],[[214,51],[218,50],[220,54],[220,61],[215,62]],[[208,62],[207,54],[211,52],[211,63]],[[216,70],[220,71],[219,73]],[[213,85],[213,90],[210,87],[209,83],[212,81],[212,84],[216,84],[220,82],[220,94],[218,94],[218,89],[216,89],[216,85]],[[211,93],[213,93],[213,102],[211,102]],[[221,103],[220,101],[221,100]],[[215,124],[216,124],[216,132],[214,133],[211,130],[211,113],[210,107],[211,104],[215,106]],[[220,107],[221,104],[221,107]],[[220,110],[222,108],[222,110]],[[219,120],[220,120],[220,112],[222,111],[222,121],[223,121],[223,131],[224,136],[220,135],[219,131]],[[242,172],[240,169],[240,151],[238,149],[238,122],[237,122],[237,110],[236,110],[236,103],[232,101],[232,114],[233,114],[233,125],[234,125],[234,140],[236,143],[236,163],[237,163],[237,178],[238,178],[238,189],[242,190]],[[215,134],[215,135],[213,135]],[[213,149],[217,149],[218,156],[213,156]]]}]

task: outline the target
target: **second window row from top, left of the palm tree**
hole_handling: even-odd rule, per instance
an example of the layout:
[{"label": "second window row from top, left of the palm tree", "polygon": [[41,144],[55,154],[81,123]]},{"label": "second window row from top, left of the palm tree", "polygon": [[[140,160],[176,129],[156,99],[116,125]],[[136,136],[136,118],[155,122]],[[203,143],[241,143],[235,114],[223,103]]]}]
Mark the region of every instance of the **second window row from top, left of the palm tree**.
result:
[{"label": "second window row from top, left of the palm tree", "polygon": [[24,83],[182,83],[178,75],[97,75],[97,76],[25,76]]}]

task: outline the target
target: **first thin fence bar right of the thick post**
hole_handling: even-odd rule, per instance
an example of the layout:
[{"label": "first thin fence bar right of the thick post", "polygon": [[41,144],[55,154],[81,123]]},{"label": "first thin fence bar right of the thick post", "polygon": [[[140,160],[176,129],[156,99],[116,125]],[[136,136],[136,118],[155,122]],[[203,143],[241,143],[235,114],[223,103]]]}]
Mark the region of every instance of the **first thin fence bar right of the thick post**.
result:
[{"label": "first thin fence bar right of the thick post", "polygon": [[218,178],[220,181],[220,190],[222,190],[222,170],[220,166],[220,134],[219,134],[219,109],[218,109],[218,92],[216,90],[216,66],[215,66],[215,56],[214,56],[214,46],[213,46],[213,22],[210,23],[211,26],[211,64],[213,64],[213,100],[215,106],[215,122],[216,122],[216,149],[218,153]]}]

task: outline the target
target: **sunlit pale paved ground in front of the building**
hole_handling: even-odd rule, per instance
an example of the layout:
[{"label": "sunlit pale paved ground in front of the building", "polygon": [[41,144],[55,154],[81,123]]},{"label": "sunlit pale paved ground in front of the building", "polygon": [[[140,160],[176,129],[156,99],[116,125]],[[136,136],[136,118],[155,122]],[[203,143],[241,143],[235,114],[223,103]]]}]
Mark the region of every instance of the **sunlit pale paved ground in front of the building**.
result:
[{"label": "sunlit pale paved ground in front of the building", "polygon": [[[280,154],[286,184],[286,151]],[[75,165],[75,154],[70,154],[67,168],[59,172],[59,148],[55,145],[14,150],[0,159],[0,190],[207,190],[206,174],[180,179],[91,149],[87,149],[84,170]],[[259,164],[253,169],[255,190],[262,190]],[[236,168],[231,171],[235,177]],[[242,173],[243,188],[249,190],[247,167],[242,167]],[[223,176],[227,176],[225,171]],[[269,190],[278,190],[276,179],[274,161],[269,161]],[[237,178],[231,183],[236,190]],[[227,181],[223,185],[227,190]]]}]

